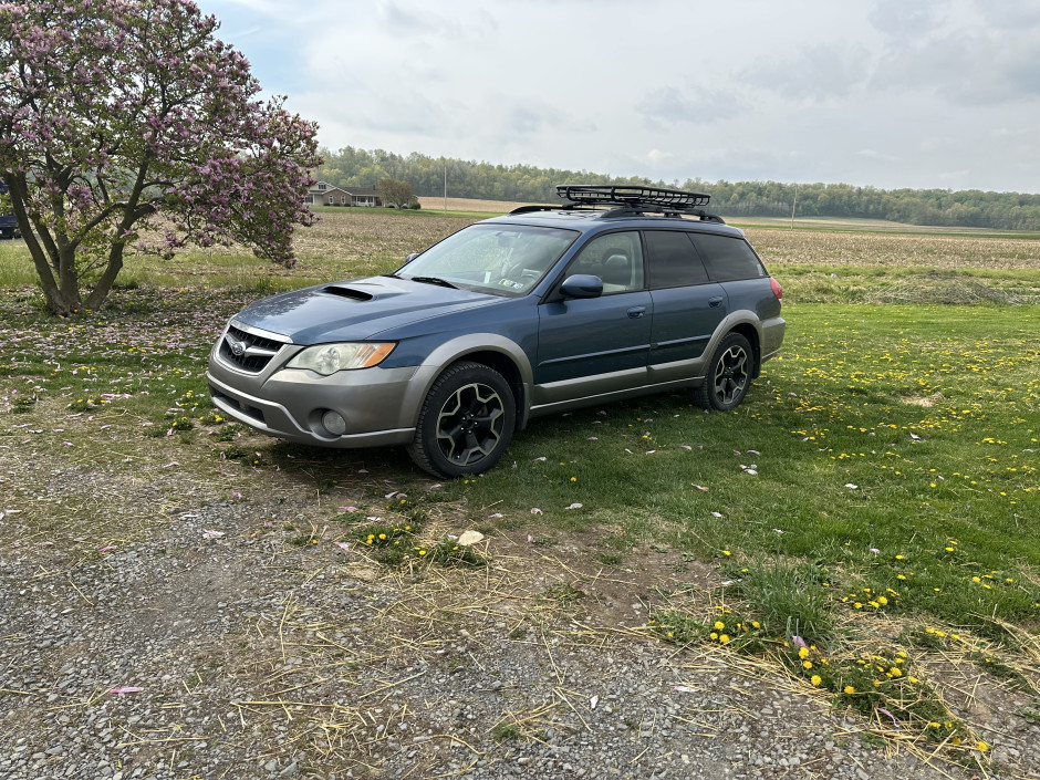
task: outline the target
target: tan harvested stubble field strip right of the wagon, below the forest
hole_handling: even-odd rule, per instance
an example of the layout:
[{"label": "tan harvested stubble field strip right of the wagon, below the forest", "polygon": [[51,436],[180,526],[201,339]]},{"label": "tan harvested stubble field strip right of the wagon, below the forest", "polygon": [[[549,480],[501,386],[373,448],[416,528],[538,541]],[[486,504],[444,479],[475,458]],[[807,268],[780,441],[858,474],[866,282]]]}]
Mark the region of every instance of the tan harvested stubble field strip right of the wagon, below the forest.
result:
[{"label": "tan harvested stubble field strip right of the wagon, below the forest", "polygon": [[881,266],[888,268],[1040,268],[1034,239],[747,229],[768,268]]}]

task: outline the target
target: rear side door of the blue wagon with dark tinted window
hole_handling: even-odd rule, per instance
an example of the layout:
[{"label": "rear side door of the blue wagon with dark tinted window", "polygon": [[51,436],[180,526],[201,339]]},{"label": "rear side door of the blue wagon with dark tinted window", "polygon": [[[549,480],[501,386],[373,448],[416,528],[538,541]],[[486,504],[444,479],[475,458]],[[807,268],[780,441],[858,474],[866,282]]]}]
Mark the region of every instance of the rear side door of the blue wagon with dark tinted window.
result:
[{"label": "rear side door of the blue wagon with dark tinted window", "polygon": [[689,232],[646,230],[644,238],[654,306],[651,381],[699,376],[705,346],[728,311],[726,291],[709,280]]}]

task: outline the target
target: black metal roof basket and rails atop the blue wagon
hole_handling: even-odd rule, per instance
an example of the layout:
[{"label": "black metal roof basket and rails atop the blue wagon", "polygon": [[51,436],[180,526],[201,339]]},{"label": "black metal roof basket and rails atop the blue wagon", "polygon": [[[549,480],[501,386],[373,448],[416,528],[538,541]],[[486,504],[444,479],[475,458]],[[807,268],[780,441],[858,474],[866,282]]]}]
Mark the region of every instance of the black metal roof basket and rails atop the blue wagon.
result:
[{"label": "black metal roof basket and rails atop the blue wagon", "polygon": [[[603,214],[604,217],[624,217],[639,214],[661,214],[665,217],[689,215],[709,222],[722,222],[722,218],[706,212],[710,195],[687,193],[664,187],[644,187],[642,185],[557,185],[557,196],[571,202],[564,210],[578,210],[582,207],[616,206]],[[559,206],[521,206],[510,214],[558,210]]]}]

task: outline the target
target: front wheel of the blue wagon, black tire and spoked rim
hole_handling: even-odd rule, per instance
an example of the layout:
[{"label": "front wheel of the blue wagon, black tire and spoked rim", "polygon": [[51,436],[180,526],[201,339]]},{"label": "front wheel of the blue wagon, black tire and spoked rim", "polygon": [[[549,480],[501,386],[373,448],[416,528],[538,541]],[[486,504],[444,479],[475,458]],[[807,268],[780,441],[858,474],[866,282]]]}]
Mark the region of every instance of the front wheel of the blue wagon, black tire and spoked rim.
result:
[{"label": "front wheel of the blue wagon, black tire and spoked rim", "polygon": [[408,455],[438,477],[482,474],[502,457],[516,425],[517,403],[502,375],[455,363],[429,388]]}]

